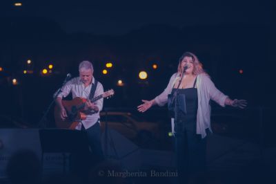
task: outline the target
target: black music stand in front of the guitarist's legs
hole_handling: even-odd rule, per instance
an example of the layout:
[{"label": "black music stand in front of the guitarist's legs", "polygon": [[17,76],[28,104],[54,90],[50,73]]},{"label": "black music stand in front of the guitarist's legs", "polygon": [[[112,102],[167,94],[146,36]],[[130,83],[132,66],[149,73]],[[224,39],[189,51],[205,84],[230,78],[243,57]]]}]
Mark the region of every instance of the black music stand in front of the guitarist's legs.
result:
[{"label": "black music stand in front of the guitarist's legs", "polygon": [[88,139],[83,131],[70,129],[39,129],[41,143],[41,164],[44,153],[63,154],[63,173],[66,172],[66,153],[80,153],[89,150]]}]

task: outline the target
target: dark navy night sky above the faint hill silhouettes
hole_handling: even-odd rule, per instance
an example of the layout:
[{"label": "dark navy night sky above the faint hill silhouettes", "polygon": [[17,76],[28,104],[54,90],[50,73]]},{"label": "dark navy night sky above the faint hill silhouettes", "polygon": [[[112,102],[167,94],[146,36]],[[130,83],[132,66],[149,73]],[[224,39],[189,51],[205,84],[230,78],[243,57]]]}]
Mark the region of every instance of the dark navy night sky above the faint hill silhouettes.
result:
[{"label": "dark navy night sky above the faint hill silhouettes", "polygon": [[[47,17],[67,33],[122,35],[148,24],[184,26],[213,24],[273,24],[271,1],[34,1],[11,0],[6,15]],[[3,6],[2,6],[3,7]]]}]

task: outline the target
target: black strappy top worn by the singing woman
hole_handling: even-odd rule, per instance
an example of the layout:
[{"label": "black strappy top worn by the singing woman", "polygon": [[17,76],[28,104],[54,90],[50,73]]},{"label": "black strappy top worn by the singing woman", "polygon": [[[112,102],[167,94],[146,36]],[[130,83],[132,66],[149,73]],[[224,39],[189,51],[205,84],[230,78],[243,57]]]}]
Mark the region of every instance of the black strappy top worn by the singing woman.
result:
[{"label": "black strappy top worn by the singing woman", "polygon": [[[195,84],[197,78],[195,79],[192,88],[187,89],[172,89],[172,94],[177,90],[177,95],[183,95],[182,98],[185,99],[186,113],[177,109],[177,122],[175,122],[175,132],[184,131],[184,129],[189,131],[196,131],[197,127],[197,89]],[[184,105],[185,105],[184,104]]]}]

